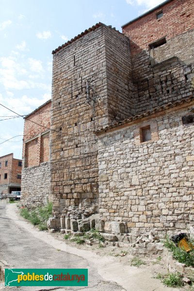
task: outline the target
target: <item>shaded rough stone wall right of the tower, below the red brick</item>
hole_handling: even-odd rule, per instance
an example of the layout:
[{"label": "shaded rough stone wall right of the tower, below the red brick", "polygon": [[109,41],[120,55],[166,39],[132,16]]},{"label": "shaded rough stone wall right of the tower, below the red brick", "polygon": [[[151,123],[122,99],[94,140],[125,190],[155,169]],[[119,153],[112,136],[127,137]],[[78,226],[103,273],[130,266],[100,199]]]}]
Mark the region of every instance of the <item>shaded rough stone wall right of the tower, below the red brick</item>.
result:
[{"label": "shaded rough stone wall right of the tower, below the red brick", "polygon": [[[179,47],[182,47],[177,53],[180,60],[176,55],[173,57],[173,50],[170,52],[165,49],[168,43],[151,51],[144,50],[132,57],[136,114],[193,95],[191,78],[194,77],[194,58],[183,58],[187,51],[184,49],[184,39],[191,35],[193,32],[187,32],[181,39],[176,38],[176,43],[179,41]],[[192,39],[191,47],[194,45],[194,38]],[[158,61],[161,62],[157,64]]]}]

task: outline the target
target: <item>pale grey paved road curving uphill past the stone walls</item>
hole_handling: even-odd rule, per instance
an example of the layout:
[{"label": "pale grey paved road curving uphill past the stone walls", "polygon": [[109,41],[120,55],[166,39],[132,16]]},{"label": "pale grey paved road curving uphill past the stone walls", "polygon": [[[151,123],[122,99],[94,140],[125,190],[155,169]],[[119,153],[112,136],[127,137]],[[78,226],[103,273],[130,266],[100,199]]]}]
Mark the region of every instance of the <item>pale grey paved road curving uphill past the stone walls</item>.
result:
[{"label": "pale grey paved road curving uphill past the stone walls", "polygon": [[[71,247],[47,232],[38,231],[17,214],[16,204],[0,204],[0,264],[12,268],[87,268],[88,287],[55,290],[174,291],[165,288],[149,271],[124,266],[115,258]],[[3,287],[0,291],[44,291],[54,287]],[[176,289],[177,290],[177,289]]]}]

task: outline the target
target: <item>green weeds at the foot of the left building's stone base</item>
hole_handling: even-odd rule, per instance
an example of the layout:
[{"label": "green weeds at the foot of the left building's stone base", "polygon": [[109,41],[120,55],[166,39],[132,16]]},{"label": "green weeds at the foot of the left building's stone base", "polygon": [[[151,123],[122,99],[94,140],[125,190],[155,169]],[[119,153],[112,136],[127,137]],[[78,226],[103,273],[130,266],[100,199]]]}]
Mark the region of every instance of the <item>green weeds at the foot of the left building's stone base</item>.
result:
[{"label": "green weeds at the foot of the left building's stone base", "polygon": [[32,225],[38,226],[39,230],[47,230],[47,221],[52,215],[52,203],[49,202],[46,206],[40,206],[33,210],[21,208],[20,215],[29,220]]}]

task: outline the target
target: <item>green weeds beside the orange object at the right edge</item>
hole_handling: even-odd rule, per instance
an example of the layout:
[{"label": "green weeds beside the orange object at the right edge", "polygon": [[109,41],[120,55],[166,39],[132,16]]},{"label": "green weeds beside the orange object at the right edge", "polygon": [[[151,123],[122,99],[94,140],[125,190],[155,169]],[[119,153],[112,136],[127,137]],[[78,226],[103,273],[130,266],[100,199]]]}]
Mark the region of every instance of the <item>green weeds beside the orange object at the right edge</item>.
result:
[{"label": "green weeds beside the orange object at the right edge", "polygon": [[[192,242],[189,241],[189,243]],[[173,258],[176,259],[179,263],[183,263],[187,267],[194,267],[194,250],[192,250],[190,253],[187,253],[185,250],[177,247],[174,242],[169,240],[169,238],[167,238],[164,242],[164,246],[172,252]]]}]

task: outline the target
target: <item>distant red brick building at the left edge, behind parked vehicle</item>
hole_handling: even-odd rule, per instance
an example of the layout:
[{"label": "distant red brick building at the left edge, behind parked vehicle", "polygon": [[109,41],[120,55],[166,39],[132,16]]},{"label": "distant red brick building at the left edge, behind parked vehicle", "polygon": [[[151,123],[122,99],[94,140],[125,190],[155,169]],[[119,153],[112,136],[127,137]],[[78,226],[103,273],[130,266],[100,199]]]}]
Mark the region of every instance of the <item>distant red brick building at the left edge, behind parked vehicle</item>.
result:
[{"label": "distant red brick building at the left edge, behind parked vehicle", "polygon": [[22,161],[14,159],[14,154],[0,157],[0,193],[8,194],[21,190]]}]

